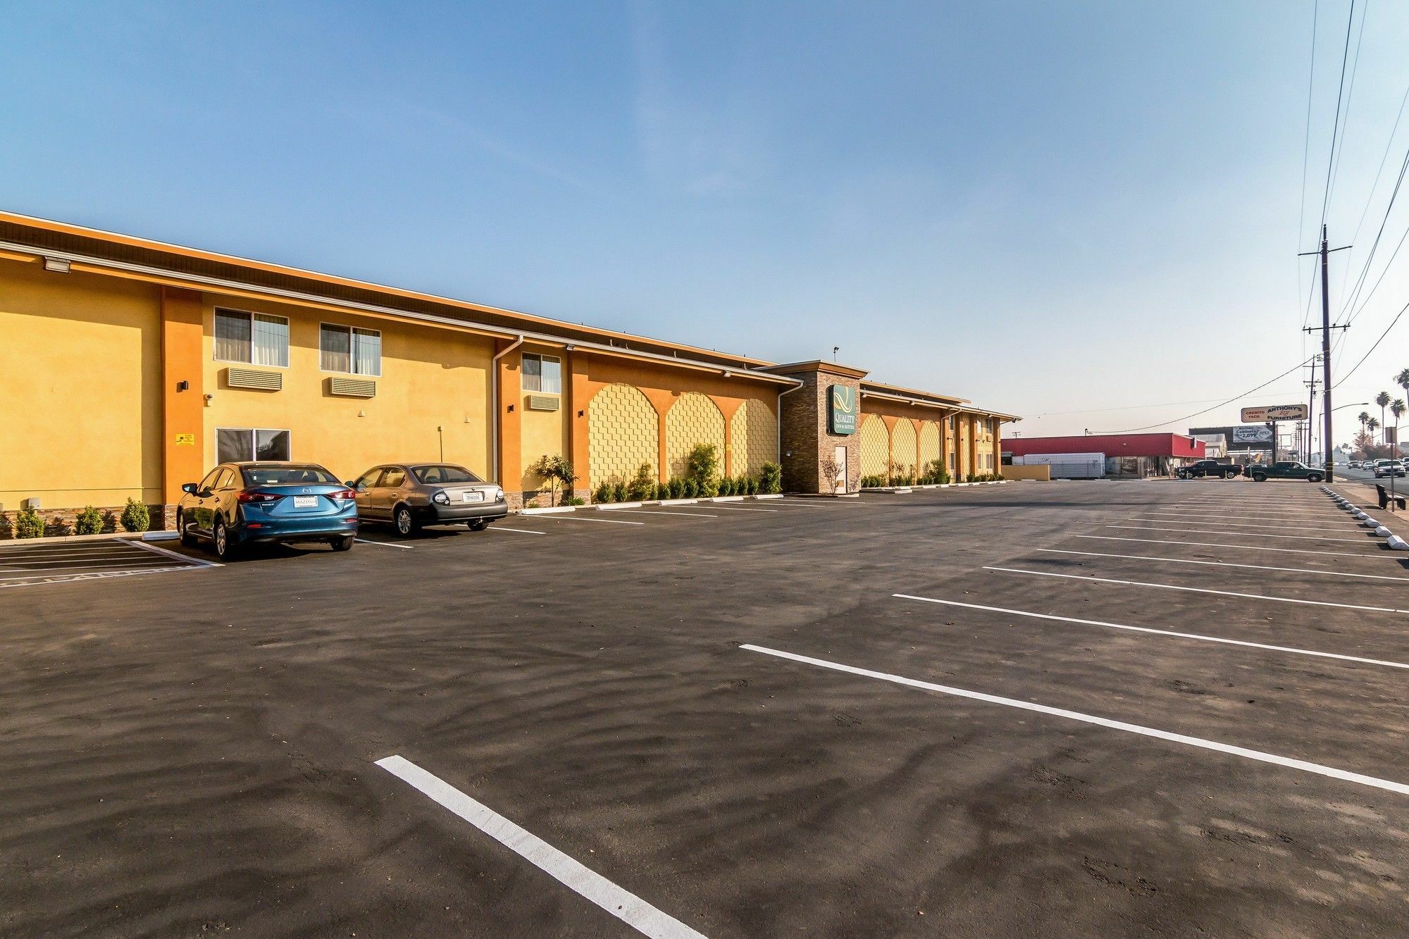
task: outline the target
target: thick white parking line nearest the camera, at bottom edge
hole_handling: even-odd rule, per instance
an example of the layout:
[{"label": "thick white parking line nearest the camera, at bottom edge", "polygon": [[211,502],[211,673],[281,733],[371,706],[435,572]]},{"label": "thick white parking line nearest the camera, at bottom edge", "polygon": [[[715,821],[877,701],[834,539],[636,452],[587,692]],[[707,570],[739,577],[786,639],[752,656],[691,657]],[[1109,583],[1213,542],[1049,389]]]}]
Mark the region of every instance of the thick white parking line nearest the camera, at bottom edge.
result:
[{"label": "thick white parking line nearest the camera, at bottom edge", "polygon": [[445,780],[427,773],[410,760],[389,756],[378,760],[376,764],[403,782],[409,782],[424,795],[428,795],[441,806],[448,808],[562,885],[590,900],[628,926],[633,926],[637,932],[655,936],[657,939],[704,939],[703,933],[661,912],[635,894],[621,890],[590,867],[564,854],[537,835],[514,825],[483,802],[472,799]]}]

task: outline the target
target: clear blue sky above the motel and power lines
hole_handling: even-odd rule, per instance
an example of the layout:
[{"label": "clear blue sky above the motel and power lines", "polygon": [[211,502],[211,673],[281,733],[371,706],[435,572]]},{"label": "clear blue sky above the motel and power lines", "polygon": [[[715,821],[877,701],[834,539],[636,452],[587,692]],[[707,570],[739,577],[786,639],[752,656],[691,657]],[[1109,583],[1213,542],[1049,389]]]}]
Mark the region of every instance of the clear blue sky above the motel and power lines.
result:
[{"label": "clear blue sky above the motel and power lines", "polygon": [[[779,361],[841,345],[1029,436],[1234,420],[1175,419],[1313,351],[1295,254],[1348,1],[1320,3],[1301,237],[1310,3],[0,6],[7,210]],[[1368,245],[1409,7],[1357,35],[1329,221],[1344,243],[1370,204]],[[1398,391],[1403,336],[1337,400]]]}]

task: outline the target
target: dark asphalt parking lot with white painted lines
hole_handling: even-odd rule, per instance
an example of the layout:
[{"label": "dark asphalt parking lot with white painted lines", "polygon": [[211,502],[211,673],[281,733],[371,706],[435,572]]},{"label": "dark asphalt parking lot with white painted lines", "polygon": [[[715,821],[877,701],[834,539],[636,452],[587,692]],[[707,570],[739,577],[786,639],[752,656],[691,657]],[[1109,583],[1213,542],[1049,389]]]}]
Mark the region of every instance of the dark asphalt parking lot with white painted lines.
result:
[{"label": "dark asphalt parking lot with white painted lines", "polygon": [[0,933],[1403,935],[1409,565],[1316,485],[361,540],[6,595]]}]

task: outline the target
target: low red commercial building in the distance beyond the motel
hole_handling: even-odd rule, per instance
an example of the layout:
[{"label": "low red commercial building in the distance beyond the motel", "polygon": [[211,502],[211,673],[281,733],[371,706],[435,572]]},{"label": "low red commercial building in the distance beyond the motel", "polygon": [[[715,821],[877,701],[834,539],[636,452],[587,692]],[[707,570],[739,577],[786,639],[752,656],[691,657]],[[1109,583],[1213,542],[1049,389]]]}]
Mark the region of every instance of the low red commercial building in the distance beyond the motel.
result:
[{"label": "low red commercial building in the distance beyond the motel", "polygon": [[[1003,462],[1029,458],[1051,465],[1053,478],[1089,477],[1103,464],[1106,477],[1165,477],[1203,460],[1202,440],[1184,434],[1086,434],[1081,437],[1012,437],[1003,441]],[[1095,460],[1099,457],[1100,460]],[[1079,472],[1065,471],[1071,467]]]}]

